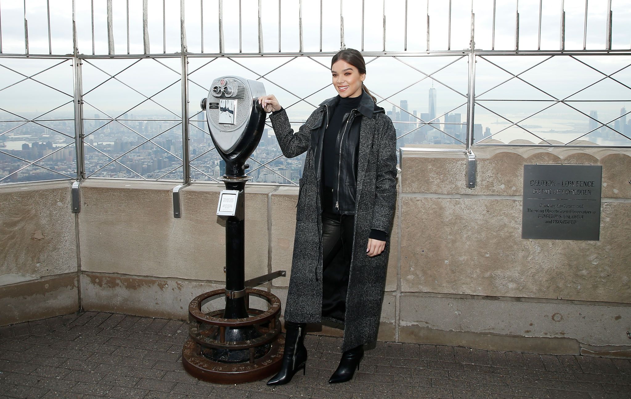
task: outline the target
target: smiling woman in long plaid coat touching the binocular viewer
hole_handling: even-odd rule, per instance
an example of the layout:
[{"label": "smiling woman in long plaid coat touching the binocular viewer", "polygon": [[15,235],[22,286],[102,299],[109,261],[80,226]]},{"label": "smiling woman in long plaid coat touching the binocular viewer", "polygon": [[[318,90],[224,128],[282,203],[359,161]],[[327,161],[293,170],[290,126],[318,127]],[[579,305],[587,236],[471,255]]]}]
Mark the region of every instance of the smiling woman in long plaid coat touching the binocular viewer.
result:
[{"label": "smiling woman in long plaid coat touching the binocular viewer", "polygon": [[297,133],[274,95],[259,98],[285,157],[307,152],[300,179],[292,275],[285,305],[285,354],[269,385],[305,369],[305,323],[344,323],[343,354],[329,383],[353,378],[363,344],[377,339],[396,201],[396,135],[363,80],[362,54],[331,61],[338,95]]}]

